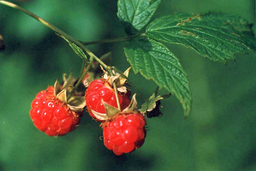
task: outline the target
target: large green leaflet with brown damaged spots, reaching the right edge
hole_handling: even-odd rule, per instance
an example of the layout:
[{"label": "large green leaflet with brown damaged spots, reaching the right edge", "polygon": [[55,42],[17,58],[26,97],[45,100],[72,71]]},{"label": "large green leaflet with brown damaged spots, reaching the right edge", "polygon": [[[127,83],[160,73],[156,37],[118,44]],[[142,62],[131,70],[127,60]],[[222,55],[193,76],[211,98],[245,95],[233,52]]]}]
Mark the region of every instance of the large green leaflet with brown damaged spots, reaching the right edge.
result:
[{"label": "large green leaflet with brown damaged spots, reaching the right edge", "polygon": [[177,13],[154,20],[146,30],[152,39],[182,44],[213,61],[226,63],[255,50],[252,25],[225,14]]}]

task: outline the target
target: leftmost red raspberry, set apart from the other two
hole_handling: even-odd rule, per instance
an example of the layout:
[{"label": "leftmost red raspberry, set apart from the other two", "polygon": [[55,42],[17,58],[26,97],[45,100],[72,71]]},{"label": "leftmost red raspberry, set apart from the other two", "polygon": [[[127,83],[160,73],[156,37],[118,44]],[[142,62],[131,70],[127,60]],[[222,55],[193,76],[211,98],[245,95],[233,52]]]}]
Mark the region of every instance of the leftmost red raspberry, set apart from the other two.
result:
[{"label": "leftmost red raspberry, set apart from the other two", "polygon": [[54,88],[39,92],[31,103],[30,117],[40,131],[49,136],[62,136],[76,129],[80,113],[54,96]]}]

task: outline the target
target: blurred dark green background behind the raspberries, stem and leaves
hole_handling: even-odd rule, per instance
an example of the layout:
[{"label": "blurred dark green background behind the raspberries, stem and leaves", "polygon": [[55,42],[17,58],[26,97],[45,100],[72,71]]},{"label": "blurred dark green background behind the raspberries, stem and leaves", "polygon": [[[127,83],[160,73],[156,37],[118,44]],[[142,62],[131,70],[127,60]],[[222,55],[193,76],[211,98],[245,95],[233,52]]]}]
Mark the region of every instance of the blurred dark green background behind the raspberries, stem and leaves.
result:
[{"label": "blurred dark green background behind the raspberries, stem and leaves", "polygon": [[[83,41],[125,36],[115,0],[12,2]],[[253,0],[163,0],[153,19],[179,11],[228,12],[255,24]],[[81,60],[68,44],[35,19],[4,5],[0,34],[6,45],[0,53],[1,171],[256,170],[255,53],[239,55],[225,66],[183,46],[167,45],[188,74],[192,113],[184,120],[175,96],[163,100],[164,115],[147,120],[144,145],[116,157],[103,146],[99,123],[86,112],[74,132],[57,139],[39,132],[29,117],[30,103],[39,91],[70,68],[78,75]],[[122,42],[88,47],[98,56],[112,50],[112,65],[124,71],[129,64],[123,46]],[[139,74],[130,76],[147,96],[156,88]],[[138,101],[142,103],[140,96]]]}]

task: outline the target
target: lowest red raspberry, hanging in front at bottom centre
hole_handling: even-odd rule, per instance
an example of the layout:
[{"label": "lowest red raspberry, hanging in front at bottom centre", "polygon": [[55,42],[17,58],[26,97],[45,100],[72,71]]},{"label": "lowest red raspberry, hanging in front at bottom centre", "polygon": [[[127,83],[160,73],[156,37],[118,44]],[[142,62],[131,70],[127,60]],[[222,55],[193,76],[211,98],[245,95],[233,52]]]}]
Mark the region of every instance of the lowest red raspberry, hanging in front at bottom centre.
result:
[{"label": "lowest red raspberry, hanging in front at bottom centre", "polygon": [[140,148],[146,137],[145,124],[143,115],[137,112],[114,116],[102,125],[104,145],[116,155]]}]

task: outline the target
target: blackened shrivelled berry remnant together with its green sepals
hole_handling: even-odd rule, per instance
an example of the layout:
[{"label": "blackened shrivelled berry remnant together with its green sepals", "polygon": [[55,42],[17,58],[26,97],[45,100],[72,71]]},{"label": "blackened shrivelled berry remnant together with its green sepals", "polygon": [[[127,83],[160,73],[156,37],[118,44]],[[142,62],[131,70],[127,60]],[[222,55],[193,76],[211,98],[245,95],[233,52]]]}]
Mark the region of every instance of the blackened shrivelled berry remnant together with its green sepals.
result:
[{"label": "blackened shrivelled berry remnant together with its green sepals", "polygon": [[[140,113],[147,114],[147,117],[149,116],[148,118],[152,118],[162,114],[162,112],[159,110],[160,100],[171,96],[171,93],[167,95],[156,96],[157,93],[158,87],[156,88],[156,91],[153,93],[153,95],[148,98],[148,101],[143,103],[141,105],[141,108],[139,109]],[[154,116],[151,116],[150,114],[148,114],[148,112],[151,112],[151,114],[154,113]]]}]

